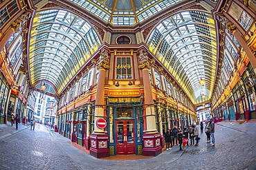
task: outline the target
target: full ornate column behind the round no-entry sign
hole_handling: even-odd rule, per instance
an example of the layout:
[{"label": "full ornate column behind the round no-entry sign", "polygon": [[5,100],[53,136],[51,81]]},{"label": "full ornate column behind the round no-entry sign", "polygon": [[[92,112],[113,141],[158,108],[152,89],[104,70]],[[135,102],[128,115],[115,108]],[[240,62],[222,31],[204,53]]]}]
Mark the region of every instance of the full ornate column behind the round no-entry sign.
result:
[{"label": "full ornate column behind the round no-entry sign", "polygon": [[97,85],[97,94],[95,100],[95,113],[94,113],[94,131],[91,134],[91,148],[90,155],[96,158],[104,158],[110,156],[109,153],[109,137],[104,129],[97,126],[97,120],[104,118],[104,86],[106,70],[109,69],[109,54],[107,50],[100,52],[100,59],[97,62],[97,69],[99,70],[99,78]]}]

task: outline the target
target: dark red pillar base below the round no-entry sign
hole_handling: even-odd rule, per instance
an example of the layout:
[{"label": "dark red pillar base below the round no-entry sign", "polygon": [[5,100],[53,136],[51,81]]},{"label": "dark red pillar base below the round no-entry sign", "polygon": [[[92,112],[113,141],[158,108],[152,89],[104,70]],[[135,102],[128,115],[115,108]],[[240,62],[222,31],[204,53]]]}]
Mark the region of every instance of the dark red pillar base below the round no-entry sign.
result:
[{"label": "dark red pillar base below the round no-entry sign", "polygon": [[91,134],[90,155],[95,158],[109,157],[109,137],[107,134]]}]

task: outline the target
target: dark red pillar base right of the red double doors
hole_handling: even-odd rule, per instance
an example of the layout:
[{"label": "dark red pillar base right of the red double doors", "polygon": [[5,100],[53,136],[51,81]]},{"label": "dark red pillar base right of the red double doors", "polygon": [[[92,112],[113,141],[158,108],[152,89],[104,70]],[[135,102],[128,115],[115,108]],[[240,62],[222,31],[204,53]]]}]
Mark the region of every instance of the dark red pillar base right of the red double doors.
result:
[{"label": "dark red pillar base right of the red double doors", "polygon": [[161,134],[143,134],[143,156],[158,156],[162,153]]}]

